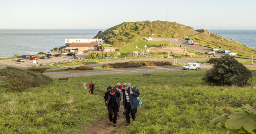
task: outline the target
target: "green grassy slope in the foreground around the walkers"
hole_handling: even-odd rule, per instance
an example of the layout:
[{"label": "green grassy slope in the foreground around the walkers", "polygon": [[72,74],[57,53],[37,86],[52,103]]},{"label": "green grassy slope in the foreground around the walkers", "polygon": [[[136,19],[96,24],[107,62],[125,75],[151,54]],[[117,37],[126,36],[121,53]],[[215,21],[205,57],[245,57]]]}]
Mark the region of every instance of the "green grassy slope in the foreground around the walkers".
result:
[{"label": "green grassy slope in the foreground around the walkers", "polygon": [[[242,104],[255,105],[255,74],[252,86],[217,87],[201,81],[205,70],[69,77],[52,85],[22,93],[8,92],[0,84],[0,131],[6,133],[79,133],[90,122],[108,117],[104,93],[116,83],[132,83],[140,89],[141,107],[136,122],[118,133],[221,133],[208,123]],[[95,95],[84,82],[95,82]],[[89,83],[87,83],[89,87]],[[118,121],[118,120],[117,120]],[[23,126],[23,127],[22,127]],[[19,128],[22,128],[19,130]]]}]

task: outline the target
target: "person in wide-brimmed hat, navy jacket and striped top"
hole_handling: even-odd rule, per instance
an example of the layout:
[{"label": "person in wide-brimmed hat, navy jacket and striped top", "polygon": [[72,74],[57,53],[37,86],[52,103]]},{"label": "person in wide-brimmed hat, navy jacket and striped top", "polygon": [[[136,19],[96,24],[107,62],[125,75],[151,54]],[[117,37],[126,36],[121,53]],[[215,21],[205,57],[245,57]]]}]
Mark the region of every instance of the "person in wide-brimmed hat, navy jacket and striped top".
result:
[{"label": "person in wide-brimmed hat, navy jacket and striped top", "polygon": [[139,106],[139,102],[137,100],[138,95],[140,95],[139,91],[136,88],[131,87],[127,83],[123,84],[123,106],[125,110],[126,116],[126,126],[130,124],[130,113],[132,114],[132,121],[135,121],[136,115],[136,107]]}]

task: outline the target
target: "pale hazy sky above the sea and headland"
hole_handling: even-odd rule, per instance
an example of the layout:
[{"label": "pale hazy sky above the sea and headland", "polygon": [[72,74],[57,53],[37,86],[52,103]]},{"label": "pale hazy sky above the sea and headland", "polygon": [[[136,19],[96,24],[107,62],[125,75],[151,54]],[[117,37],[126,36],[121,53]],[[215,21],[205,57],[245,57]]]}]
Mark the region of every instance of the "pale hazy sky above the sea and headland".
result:
[{"label": "pale hazy sky above the sea and headland", "polygon": [[107,29],[145,20],[256,29],[255,5],[256,0],[2,0],[0,29]]}]

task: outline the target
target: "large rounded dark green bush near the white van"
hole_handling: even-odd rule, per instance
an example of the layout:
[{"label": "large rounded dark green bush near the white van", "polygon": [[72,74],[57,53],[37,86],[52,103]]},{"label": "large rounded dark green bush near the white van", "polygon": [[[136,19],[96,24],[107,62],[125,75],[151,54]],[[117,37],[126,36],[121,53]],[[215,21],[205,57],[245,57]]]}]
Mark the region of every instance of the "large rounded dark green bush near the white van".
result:
[{"label": "large rounded dark green bush near the white van", "polygon": [[252,81],[252,72],[230,55],[210,58],[207,62],[214,65],[205,72],[203,81],[220,86],[245,86]]}]

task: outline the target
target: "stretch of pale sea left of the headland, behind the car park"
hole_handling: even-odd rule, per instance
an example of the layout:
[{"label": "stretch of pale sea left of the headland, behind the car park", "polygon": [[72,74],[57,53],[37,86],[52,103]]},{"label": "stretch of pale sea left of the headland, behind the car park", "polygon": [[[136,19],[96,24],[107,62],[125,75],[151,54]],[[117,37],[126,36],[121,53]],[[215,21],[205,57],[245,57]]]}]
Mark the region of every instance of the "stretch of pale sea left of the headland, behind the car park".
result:
[{"label": "stretch of pale sea left of the headland, behind the car park", "polygon": [[0,29],[0,57],[37,54],[65,46],[65,38],[93,38],[106,29]]}]

